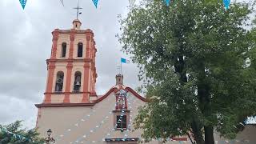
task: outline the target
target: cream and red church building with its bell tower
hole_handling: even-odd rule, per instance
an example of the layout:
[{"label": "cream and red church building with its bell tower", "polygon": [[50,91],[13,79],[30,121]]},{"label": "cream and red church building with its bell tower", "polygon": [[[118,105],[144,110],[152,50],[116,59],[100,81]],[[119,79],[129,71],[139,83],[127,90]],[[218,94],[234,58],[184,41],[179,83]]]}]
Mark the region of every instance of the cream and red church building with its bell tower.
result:
[{"label": "cream and red church building with its bell tower", "polygon": [[[38,108],[36,127],[42,138],[52,130],[58,144],[136,144],[143,142],[142,130],[134,130],[139,106],[148,100],[124,85],[122,74],[113,78],[106,94],[95,91],[97,79],[94,32],[82,30],[82,22],[73,21],[68,30],[52,32],[52,48],[47,63],[44,100]],[[227,141],[215,135],[216,143],[253,144],[255,126],[246,126],[238,139]],[[149,144],[160,144],[152,140]],[[167,144],[191,143],[186,136],[170,138]]]}]

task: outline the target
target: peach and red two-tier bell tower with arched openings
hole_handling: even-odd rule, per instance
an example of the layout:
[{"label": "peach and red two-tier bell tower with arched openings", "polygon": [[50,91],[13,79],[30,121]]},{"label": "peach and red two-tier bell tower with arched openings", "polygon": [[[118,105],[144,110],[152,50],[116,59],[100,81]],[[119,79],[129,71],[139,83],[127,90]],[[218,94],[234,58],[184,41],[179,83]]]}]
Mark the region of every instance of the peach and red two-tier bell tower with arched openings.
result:
[{"label": "peach and red two-tier bell tower with arched openings", "polygon": [[88,103],[97,99],[94,33],[90,29],[81,30],[82,22],[78,19],[72,23],[70,30],[52,32],[43,103]]}]

